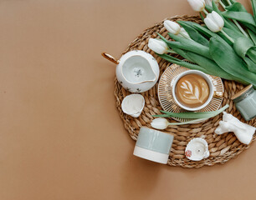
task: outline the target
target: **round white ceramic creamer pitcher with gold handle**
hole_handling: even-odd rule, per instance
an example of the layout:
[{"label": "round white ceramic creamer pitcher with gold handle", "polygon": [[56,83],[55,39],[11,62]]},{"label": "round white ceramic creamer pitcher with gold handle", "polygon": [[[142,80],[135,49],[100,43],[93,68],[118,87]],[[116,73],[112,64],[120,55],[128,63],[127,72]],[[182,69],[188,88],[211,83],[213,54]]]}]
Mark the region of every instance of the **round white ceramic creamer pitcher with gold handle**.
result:
[{"label": "round white ceramic creamer pitcher with gold handle", "polygon": [[102,56],[117,64],[117,80],[129,92],[146,92],[158,80],[159,66],[150,53],[139,50],[126,52],[120,60],[105,52]]}]

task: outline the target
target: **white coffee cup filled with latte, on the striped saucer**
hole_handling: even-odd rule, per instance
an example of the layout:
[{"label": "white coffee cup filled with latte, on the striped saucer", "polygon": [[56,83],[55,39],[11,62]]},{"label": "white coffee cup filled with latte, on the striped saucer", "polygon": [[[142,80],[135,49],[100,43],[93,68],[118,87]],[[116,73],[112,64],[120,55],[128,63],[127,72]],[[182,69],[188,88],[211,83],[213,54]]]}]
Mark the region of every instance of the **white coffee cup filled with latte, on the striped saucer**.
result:
[{"label": "white coffee cup filled with latte, on the striped saucer", "polygon": [[[216,90],[211,77],[198,70],[180,73],[172,80],[171,87],[174,102],[187,111],[198,111],[207,107]],[[222,94],[218,97],[221,96]]]}]

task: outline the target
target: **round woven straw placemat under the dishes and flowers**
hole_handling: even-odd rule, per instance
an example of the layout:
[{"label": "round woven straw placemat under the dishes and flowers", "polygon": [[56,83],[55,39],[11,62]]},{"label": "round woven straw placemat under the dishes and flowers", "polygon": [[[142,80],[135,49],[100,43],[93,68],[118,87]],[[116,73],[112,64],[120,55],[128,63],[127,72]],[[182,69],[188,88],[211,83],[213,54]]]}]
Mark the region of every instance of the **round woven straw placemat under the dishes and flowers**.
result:
[{"label": "round woven straw placemat under the dishes and flowers", "polygon": [[[202,24],[202,20],[195,16],[175,16],[168,19],[172,21],[182,20]],[[125,52],[129,52],[131,50],[143,50],[151,53],[151,55],[156,58],[156,61],[159,64],[161,76],[162,72],[165,71],[166,67],[170,66],[170,63],[161,59],[161,57],[157,57],[156,54],[154,54],[154,52],[152,52],[151,49],[147,47],[147,42],[150,37],[158,37],[156,32],[160,32],[161,35],[170,39],[167,35],[166,29],[163,27],[162,21],[160,23],[156,23],[156,25],[151,28],[147,28],[144,32],[141,33],[140,36],[136,37],[136,39],[131,42]],[[172,56],[177,57],[177,55],[175,54],[173,54]],[[226,111],[232,113],[233,116],[238,117],[238,119],[242,122],[245,122],[243,120],[243,117],[236,110],[233,101],[230,100],[233,94],[243,88],[243,85],[238,82],[227,80],[223,80],[223,85],[225,89],[223,106],[228,103],[230,107]],[[125,89],[120,86],[120,83],[115,78],[116,107],[118,108],[120,112],[120,117],[125,124],[125,129],[127,129],[127,131],[131,135],[131,138],[134,140],[136,140],[142,126],[151,128],[151,121],[153,120],[153,117],[151,117],[151,115],[161,113],[160,110],[162,108],[157,97],[157,87],[158,83],[153,88],[151,88],[150,91],[141,93],[145,97],[146,104],[143,112],[141,113],[141,116],[138,118],[133,118],[126,115],[121,110],[121,102],[125,96],[130,94],[130,92],[125,91]],[[215,134],[214,130],[218,127],[218,122],[220,120],[222,120],[222,114],[213,117],[206,122],[182,126],[172,126],[166,128],[164,132],[172,133],[175,137],[172,143],[172,150],[169,156],[168,165],[179,166],[182,168],[201,168],[202,166],[212,166],[216,163],[226,163],[229,159],[237,157],[238,154],[249,148],[249,145],[244,145],[243,143],[240,143],[233,133],[224,133],[223,135]],[[169,121],[172,122],[173,120],[169,119]],[[256,127],[255,118],[247,123],[249,125],[252,125],[253,127]],[[192,138],[199,137],[205,138],[207,140],[210,156],[209,158],[202,161],[193,162],[185,157],[184,152],[187,143]],[[253,141],[255,140],[255,138],[256,137],[254,135]]]}]

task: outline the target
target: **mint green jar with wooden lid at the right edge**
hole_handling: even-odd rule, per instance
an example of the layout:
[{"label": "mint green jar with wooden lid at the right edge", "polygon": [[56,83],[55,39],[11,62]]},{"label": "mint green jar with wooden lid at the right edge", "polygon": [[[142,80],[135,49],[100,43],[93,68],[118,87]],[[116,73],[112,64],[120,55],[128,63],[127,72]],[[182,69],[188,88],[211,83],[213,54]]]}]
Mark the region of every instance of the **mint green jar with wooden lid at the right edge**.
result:
[{"label": "mint green jar with wooden lid at the right edge", "polygon": [[256,91],[253,85],[243,88],[232,97],[232,100],[246,121],[256,117]]}]

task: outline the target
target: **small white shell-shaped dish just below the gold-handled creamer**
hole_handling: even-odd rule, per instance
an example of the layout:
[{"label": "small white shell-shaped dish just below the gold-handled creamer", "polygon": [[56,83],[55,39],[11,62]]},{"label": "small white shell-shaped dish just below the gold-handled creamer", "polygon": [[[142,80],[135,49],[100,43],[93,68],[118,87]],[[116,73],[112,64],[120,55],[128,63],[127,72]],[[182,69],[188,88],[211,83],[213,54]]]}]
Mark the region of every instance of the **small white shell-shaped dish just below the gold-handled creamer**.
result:
[{"label": "small white shell-shaped dish just below the gold-handled creamer", "polygon": [[121,104],[122,111],[131,117],[139,117],[145,106],[145,99],[141,94],[126,96]]}]

